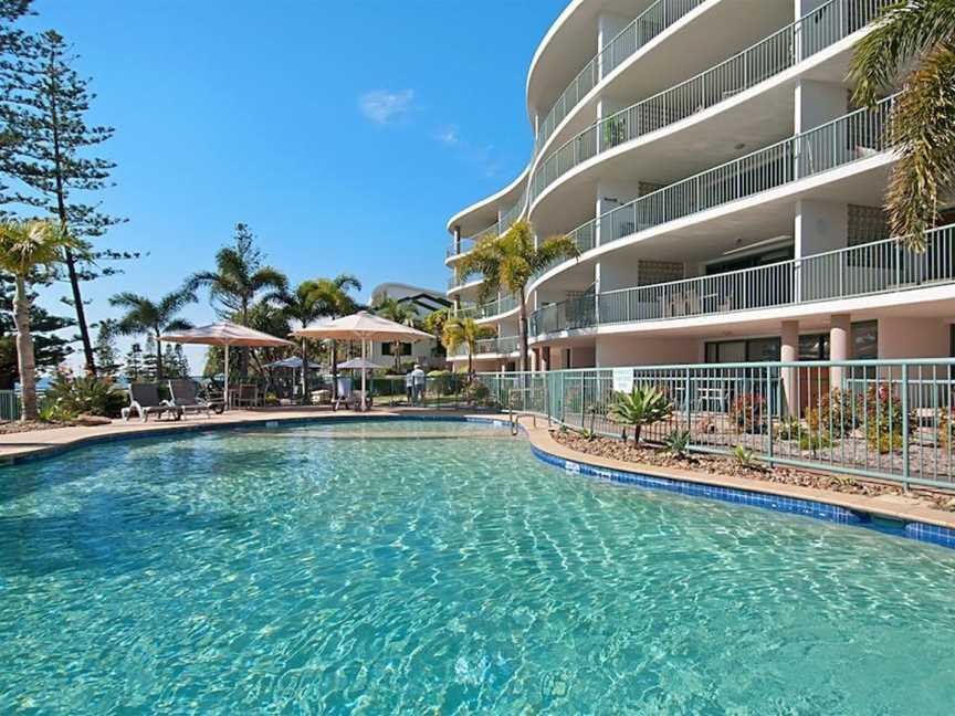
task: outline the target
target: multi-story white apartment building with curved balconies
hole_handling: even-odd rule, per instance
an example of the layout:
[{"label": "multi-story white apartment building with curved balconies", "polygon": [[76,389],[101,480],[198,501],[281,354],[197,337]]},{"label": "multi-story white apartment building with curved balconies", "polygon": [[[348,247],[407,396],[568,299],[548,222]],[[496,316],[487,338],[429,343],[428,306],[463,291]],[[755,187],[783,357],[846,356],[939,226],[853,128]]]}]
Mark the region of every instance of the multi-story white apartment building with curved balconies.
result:
[{"label": "multi-story white apartment building with curved balconies", "polygon": [[[576,240],[528,287],[538,370],[949,356],[955,231],[889,235],[893,95],[846,80],[886,4],[574,0],[527,75],[531,161],[451,218],[447,264],[517,218]],[[479,369],[513,368],[516,304],[480,287],[448,295],[497,330]]]}]

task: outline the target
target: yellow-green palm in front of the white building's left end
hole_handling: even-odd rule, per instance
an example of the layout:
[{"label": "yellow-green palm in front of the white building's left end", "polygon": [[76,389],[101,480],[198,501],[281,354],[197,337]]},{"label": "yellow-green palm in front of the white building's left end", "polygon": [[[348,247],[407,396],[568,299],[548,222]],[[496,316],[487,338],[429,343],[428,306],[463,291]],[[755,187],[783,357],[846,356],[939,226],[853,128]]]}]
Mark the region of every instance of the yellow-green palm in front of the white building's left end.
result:
[{"label": "yellow-green palm in front of the white building's left end", "polygon": [[521,336],[521,370],[527,370],[527,284],[539,271],[557,261],[575,259],[580,254],[570,236],[550,236],[535,246],[534,230],[526,219],[514,222],[501,236],[489,236],[478,242],[474,250],[458,263],[462,277],[484,274],[481,299],[496,294],[502,287],[517,296]]}]

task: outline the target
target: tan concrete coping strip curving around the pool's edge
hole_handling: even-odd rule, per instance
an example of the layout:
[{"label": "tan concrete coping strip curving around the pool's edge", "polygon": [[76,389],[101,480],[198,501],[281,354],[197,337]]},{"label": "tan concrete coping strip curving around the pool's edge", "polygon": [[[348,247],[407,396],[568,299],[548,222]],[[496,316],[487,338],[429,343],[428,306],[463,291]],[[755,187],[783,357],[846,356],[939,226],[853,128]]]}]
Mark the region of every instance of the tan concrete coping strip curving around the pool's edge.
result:
[{"label": "tan concrete coping strip curving around the pool's edge", "polygon": [[[506,422],[505,414],[480,413],[462,410],[431,410],[426,408],[396,408],[375,409],[367,413],[347,410],[332,412],[327,408],[275,408],[258,410],[232,410],[228,414],[204,417],[189,417],[180,421],[139,421],[124,422],[114,420],[108,425],[99,427],[70,427],[53,428],[50,430],[36,430],[22,433],[0,434],[0,465],[13,464],[24,460],[55,455],[71,448],[98,442],[113,442],[124,438],[140,438],[147,435],[161,435],[164,433],[188,433],[201,432],[203,430],[255,425],[264,422],[303,422],[309,420],[387,420],[390,418],[478,418],[482,420],[495,420]],[[772,495],[784,499],[798,499],[812,503],[821,503],[841,507],[853,513],[872,515],[877,517],[901,520],[905,523],[921,523],[934,525],[945,529],[955,530],[955,513],[943,512],[927,507],[924,503],[902,495],[881,495],[869,497],[865,495],[853,495],[827,489],[800,487],[783,483],[769,483],[759,480],[747,480],[728,475],[713,475],[679,470],[672,467],[659,467],[640,463],[623,462],[598,455],[589,455],[577,452],[558,443],[550,435],[546,420],[538,419],[535,422],[529,417],[521,418],[521,427],[524,430],[531,445],[539,453],[549,455],[556,461],[566,461],[568,468],[573,465],[587,465],[604,471],[657,477],[679,483],[727,488],[757,495]]]}]

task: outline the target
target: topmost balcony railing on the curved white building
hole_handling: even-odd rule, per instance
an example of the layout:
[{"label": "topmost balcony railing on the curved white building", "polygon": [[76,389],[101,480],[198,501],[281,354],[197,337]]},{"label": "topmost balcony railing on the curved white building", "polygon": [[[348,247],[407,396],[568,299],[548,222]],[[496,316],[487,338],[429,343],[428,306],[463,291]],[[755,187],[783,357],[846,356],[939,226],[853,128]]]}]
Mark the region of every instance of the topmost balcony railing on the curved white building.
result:
[{"label": "topmost balcony railing on the curved white building", "polygon": [[621,30],[590,62],[579,72],[567,88],[560,93],[547,116],[537,127],[534,151],[537,152],[547,138],[554,134],[564,118],[600,81],[627,57],[676,22],[680,18],[701,4],[703,0],[658,0],[638,15],[633,22]]}]

